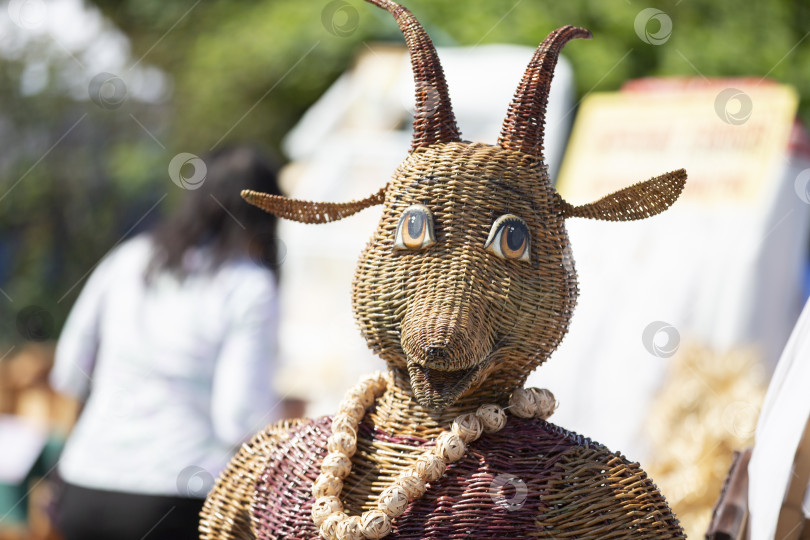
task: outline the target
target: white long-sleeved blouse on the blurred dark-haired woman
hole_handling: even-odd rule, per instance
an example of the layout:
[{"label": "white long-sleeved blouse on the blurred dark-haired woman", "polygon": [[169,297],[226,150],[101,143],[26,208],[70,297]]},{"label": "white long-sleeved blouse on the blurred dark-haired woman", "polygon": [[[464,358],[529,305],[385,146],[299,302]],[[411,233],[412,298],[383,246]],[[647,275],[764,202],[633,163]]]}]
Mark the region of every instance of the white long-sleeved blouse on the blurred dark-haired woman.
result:
[{"label": "white long-sleeved blouse on the blurred dark-haired woman", "polygon": [[87,402],[59,471],[88,488],[204,497],[281,412],[275,278],[247,258],[205,272],[195,250],[184,281],[147,286],[151,255],[147,236],[108,254],[62,331],[51,383]]}]

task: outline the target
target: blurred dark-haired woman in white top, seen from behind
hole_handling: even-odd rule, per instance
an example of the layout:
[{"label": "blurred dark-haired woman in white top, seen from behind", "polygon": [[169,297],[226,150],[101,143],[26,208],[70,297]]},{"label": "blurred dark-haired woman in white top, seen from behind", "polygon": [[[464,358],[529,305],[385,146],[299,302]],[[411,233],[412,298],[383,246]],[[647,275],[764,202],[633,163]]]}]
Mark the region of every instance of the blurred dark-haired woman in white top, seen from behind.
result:
[{"label": "blurred dark-haired woman in white top, seen from behind", "polygon": [[276,168],[247,147],[205,162],[176,214],[102,260],[60,337],[51,382],[86,399],[59,466],[67,540],[197,538],[216,476],[281,417],[276,221],[239,195],[279,193]]}]

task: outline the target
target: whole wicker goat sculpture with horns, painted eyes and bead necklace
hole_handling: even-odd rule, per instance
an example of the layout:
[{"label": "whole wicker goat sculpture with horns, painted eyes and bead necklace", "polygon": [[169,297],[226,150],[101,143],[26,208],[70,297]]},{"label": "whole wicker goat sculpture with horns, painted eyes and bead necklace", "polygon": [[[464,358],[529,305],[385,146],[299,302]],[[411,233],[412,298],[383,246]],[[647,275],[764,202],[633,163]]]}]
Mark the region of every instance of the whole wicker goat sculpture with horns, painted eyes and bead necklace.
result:
[{"label": "whole wicker goat sculpture with horns, painted eyes and bead necklace", "polygon": [[470,143],[425,31],[398,4],[368,1],[393,14],[410,50],[410,154],[361,201],[243,196],[304,223],[384,205],[352,304],[389,372],[352,388],[334,417],[283,422],[243,445],[206,500],[202,538],[683,538],[637,464],[546,422],[553,396],[522,386],[576,303],[565,219],[658,214],[686,173],[567,203],[543,160],[544,115],[560,49],[590,33],[552,32],[498,144]]}]

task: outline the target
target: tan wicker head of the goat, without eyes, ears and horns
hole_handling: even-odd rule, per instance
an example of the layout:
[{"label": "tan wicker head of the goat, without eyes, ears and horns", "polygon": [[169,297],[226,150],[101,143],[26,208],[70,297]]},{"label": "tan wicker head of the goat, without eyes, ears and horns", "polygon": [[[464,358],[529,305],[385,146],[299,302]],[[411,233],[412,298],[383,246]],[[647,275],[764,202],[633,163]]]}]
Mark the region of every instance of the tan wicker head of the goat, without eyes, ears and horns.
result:
[{"label": "tan wicker head of the goat, without eyes, ears and horns", "polygon": [[[577,285],[557,201],[542,162],[497,146],[436,144],[400,165],[360,256],[352,303],[369,346],[410,378],[424,404],[447,407],[484,380],[503,400],[562,340]],[[395,251],[412,204],[433,210],[436,244]],[[528,262],[484,250],[507,213],[528,225]]]}]

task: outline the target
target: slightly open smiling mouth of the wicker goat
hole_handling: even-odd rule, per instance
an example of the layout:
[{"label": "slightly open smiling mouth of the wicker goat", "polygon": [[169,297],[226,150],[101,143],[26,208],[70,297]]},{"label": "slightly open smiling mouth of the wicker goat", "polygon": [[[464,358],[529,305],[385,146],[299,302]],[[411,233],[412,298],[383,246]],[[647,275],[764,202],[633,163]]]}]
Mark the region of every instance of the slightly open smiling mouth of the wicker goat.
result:
[{"label": "slightly open smiling mouth of the wicker goat", "polygon": [[456,370],[441,370],[408,360],[408,375],[416,400],[428,409],[446,409],[470,389],[487,362]]}]

